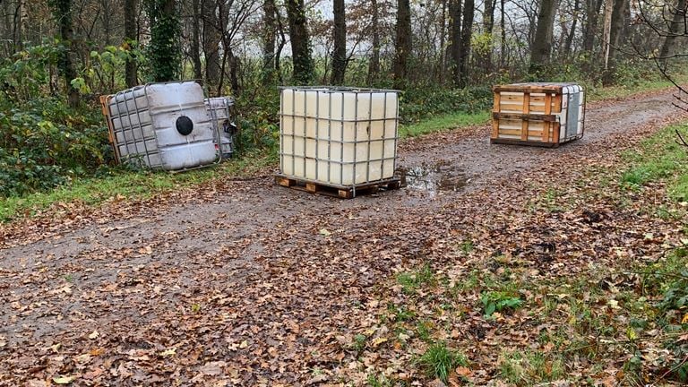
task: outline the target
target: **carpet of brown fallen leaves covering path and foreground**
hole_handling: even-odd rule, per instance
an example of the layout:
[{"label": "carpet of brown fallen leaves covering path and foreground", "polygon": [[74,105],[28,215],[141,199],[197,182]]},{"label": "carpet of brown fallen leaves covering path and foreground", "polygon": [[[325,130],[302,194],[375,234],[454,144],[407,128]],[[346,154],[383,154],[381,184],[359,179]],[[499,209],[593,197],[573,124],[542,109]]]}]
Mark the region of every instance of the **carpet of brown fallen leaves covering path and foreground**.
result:
[{"label": "carpet of brown fallen leaves covering path and foreground", "polygon": [[[340,202],[278,191],[259,179],[201,189],[199,197],[180,193],[137,206],[114,201],[109,211],[65,219],[68,225],[17,226],[5,231],[4,245],[29,245],[7,254],[24,259],[24,266],[3,260],[0,300],[10,306],[13,334],[0,337],[0,373],[53,383],[53,377],[79,375],[64,383],[94,385],[362,386],[371,375],[425,385],[429,379],[414,358],[426,340],[447,340],[470,360],[470,368],[453,370],[450,385],[462,378],[506,385],[494,381],[505,348],[552,356],[559,348],[538,340],[588,317],[572,313],[579,299],[570,289],[527,289],[519,295],[529,313],[495,313],[486,321],[481,281],[574,278],[601,264],[654,258],[662,244],[676,243],[680,227],[673,220],[638,216],[645,196],[620,209],[585,175],[618,162],[601,150],[621,150],[632,145],[628,139],[651,132],[639,130],[548,152],[490,149],[491,157],[518,153],[522,164],[542,168],[486,171],[477,180],[483,185],[432,201],[406,190]],[[409,146],[427,147],[417,158],[436,158],[436,149],[462,135],[442,133]],[[485,128],[471,135],[482,139]],[[465,157],[475,153],[466,150]],[[550,187],[562,191],[554,195],[560,202],[538,202]],[[173,199],[185,205],[170,206]],[[465,241],[472,250],[461,250]],[[55,255],[47,257],[48,249]],[[436,281],[405,294],[396,273],[424,262]],[[602,283],[609,294],[625,286],[623,279]],[[390,305],[407,307],[391,312]],[[622,326],[613,312],[624,307],[623,298],[598,306],[606,312],[595,318]],[[545,319],[546,307],[557,319]],[[426,339],[419,337],[422,322]],[[626,339],[636,334],[625,326],[619,332]],[[567,371],[588,374],[586,355]],[[644,358],[663,355],[649,350]],[[618,366],[617,357],[598,360],[610,370]],[[617,379],[616,372],[599,375]]]}]

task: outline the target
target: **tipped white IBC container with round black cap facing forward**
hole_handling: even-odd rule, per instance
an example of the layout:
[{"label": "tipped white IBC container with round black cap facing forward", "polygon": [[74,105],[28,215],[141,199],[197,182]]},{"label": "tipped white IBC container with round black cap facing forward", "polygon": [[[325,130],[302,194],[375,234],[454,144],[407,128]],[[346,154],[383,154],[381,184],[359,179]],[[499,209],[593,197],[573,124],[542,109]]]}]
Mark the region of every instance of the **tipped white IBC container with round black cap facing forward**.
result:
[{"label": "tipped white IBC container with round black cap facing forward", "polygon": [[115,94],[107,107],[123,161],[179,170],[218,160],[216,131],[196,82],[138,86]]}]

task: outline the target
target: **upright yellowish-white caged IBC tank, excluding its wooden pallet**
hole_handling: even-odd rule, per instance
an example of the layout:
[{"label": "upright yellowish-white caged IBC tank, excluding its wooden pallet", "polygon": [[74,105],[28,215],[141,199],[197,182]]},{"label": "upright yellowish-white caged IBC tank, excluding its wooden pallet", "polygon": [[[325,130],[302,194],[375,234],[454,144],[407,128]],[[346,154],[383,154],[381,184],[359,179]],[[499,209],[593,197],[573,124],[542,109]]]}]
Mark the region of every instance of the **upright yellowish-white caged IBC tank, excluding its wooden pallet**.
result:
[{"label": "upright yellowish-white caged IBC tank, excluding its wooden pallet", "polygon": [[332,186],[390,179],[398,126],[397,91],[283,88],[281,174]]}]

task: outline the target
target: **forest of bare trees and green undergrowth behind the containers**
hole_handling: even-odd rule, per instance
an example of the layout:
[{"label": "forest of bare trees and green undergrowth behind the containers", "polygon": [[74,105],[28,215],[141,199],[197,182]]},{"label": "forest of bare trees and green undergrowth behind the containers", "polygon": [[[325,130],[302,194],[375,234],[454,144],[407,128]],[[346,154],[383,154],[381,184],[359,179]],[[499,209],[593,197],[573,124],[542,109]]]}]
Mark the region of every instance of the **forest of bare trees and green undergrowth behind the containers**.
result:
[{"label": "forest of bare trees and green undergrowth behind the containers", "polygon": [[[417,122],[514,81],[632,86],[681,68],[685,0],[2,0],[0,196],[112,172],[99,95],[202,80],[241,150],[274,152],[277,86],[403,90]],[[680,101],[679,101],[680,103]]]}]

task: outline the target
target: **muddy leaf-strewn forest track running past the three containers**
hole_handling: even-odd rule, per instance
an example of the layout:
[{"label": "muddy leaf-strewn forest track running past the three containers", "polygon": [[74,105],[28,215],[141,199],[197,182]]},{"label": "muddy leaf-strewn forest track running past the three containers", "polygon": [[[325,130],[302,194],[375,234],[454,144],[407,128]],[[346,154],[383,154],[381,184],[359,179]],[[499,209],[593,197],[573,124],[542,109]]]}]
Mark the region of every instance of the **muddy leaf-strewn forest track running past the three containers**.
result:
[{"label": "muddy leaf-strewn forest track running past the three containers", "polygon": [[[488,127],[405,142],[409,187],[355,200],[262,176],[119,219],[15,234],[0,250],[0,383],[313,382],[314,367],[340,367],[342,335],[374,324],[385,278],[446,255],[435,236],[501,211],[486,195],[518,195],[547,170],[574,179],[624,138],[680,118],[672,98],[593,104],[585,137],[556,150],[490,145]],[[463,215],[475,208],[486,219]]]}]

